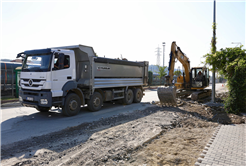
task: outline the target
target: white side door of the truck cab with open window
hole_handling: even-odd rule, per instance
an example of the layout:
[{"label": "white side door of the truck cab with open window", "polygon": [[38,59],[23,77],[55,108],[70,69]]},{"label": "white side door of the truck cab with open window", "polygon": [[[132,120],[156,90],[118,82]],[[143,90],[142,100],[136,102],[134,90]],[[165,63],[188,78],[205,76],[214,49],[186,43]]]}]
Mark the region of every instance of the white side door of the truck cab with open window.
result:
[{"label": "white side door of the truck cab with open window", "polygon": [[60,97],[63,95],[62,87],[68,82],[75,79],[73,74],[74,64],[73,56],[59,53],[54,54],[52,68],[52,97]]}]

